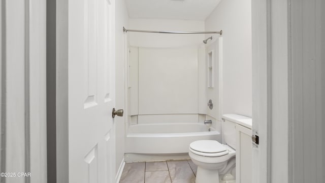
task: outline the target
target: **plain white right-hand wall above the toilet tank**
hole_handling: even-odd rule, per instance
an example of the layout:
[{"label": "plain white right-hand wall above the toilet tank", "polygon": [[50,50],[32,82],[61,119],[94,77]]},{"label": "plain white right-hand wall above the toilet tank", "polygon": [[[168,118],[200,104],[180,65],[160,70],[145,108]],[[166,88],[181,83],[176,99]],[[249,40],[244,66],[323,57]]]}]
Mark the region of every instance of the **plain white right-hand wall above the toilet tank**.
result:
[{"label": "plain white right-hand wall above the toilet tank", "polygon": [[[221,1],[205,31],[223,31],[223,113],[252,115],[251,0]],[[213,35],[206,35],[210,37]]]}]

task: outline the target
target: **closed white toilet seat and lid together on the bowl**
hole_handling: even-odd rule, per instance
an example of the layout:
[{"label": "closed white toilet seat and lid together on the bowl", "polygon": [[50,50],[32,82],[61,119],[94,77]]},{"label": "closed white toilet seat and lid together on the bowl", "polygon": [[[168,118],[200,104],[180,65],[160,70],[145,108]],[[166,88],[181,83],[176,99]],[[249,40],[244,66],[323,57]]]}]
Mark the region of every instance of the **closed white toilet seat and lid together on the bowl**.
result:
[{"label": "closed white toilet seat and lid together on the bowl", "polygon": [[216,140],[198,140],[189,144],[191,153],[204,157],[220,157],[229,154],[229,150]]}]

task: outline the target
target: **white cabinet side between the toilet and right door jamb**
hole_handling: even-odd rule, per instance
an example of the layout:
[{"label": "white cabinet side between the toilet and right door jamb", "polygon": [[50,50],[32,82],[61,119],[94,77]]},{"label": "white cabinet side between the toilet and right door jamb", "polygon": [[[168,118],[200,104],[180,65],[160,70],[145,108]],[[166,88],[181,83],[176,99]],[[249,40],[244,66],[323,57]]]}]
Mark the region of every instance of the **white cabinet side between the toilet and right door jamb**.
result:
[{"label": "white cabinet side between the toilet and right door jamb", "polygon": [[236,183],[252,182],[252,130],[236,124]]}]

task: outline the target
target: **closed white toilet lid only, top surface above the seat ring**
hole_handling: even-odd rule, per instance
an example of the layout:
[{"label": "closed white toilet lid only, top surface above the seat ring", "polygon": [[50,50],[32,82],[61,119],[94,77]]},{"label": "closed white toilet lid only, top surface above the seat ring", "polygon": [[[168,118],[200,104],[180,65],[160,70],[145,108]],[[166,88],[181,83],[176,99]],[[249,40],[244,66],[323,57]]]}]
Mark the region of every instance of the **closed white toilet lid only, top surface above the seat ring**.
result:
[{"label": "closed white toilet lid only, top surface above the seat ring", "polygon": [[189,147],[201,153],[221,153],[227,149],[216,140],[198,140],[189,144]]}]

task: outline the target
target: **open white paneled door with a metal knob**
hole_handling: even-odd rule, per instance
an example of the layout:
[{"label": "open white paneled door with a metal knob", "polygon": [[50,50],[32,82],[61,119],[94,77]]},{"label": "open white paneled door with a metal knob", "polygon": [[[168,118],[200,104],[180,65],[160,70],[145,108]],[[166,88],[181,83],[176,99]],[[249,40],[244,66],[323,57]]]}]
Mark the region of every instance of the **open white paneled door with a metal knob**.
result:
[{"label": "open white paneled door with a metal knob", "polygon": [[69,182],[115,180],[114,1],[69,1]]}]

